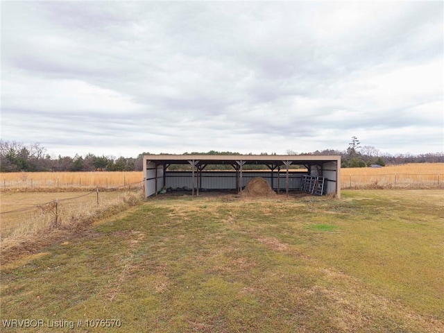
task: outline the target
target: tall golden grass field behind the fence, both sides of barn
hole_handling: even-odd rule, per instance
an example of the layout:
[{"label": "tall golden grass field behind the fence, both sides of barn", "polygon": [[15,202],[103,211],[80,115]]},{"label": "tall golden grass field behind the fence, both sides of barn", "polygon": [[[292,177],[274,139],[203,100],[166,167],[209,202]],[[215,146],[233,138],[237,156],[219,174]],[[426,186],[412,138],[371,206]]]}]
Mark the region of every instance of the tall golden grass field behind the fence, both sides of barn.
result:
[{"label": "tall golden grass field behind the fence, both sides of barn", "polygon": [[[142,171],[0,173],[1,189],[119,189],[142,186]],[[341,169],[341,185],[350,188],[444,188],[444,163],[413,163],[379,169]]]}]

